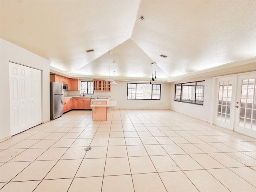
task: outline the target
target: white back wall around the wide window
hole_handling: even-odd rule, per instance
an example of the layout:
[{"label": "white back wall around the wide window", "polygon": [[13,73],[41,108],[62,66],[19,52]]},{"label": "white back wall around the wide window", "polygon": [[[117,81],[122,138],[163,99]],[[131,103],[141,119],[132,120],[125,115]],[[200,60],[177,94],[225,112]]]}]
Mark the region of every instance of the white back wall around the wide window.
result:
[{"label": "white back wall around the wide window", "polygon": [[161,100],[130,100],[127,99],[127,83],[115,81],[117,85],[111,85],[111,98],[117,99],[118,109],[170,109],[170,83],[161,84]]}]

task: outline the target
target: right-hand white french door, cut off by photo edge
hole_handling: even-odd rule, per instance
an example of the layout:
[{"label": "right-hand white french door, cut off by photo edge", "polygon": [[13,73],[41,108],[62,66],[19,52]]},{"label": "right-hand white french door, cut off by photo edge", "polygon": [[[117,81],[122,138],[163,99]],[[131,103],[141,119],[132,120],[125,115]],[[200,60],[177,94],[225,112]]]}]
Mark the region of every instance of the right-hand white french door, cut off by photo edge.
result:
[{"label": "right-hand white french door, cut off by photo edge", "polygon": [[256,138],[256,73],[238,76],[234,130]]}]

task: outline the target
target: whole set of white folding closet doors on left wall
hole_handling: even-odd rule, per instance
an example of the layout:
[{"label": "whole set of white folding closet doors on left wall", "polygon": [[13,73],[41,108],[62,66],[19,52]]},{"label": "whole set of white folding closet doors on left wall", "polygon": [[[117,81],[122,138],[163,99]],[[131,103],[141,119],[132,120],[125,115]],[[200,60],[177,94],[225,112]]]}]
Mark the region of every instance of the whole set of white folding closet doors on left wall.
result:
[{"label": "whole set of white folding closet doors on left wall", "polygon": [[[12,62],[9,64],[11,135],[14,135],[42,123],[42,80],[40,70]],[[14,69],[17,69],[18,75],[12,72]],[[13,91],[16,89],[17,93]]]}]

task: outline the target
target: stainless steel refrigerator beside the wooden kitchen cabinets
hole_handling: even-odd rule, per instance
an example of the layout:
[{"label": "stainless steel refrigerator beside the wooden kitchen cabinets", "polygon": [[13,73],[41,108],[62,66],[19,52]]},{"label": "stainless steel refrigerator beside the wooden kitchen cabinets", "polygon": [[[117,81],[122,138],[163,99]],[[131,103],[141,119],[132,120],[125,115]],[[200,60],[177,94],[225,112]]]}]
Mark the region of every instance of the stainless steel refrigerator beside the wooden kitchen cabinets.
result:
[{"label": "stainless steel refrigerator beside the wooden kitchen cabinets", "polygon": [[50,82],[50,118],[54,120],[63,114],[63,84]]}]

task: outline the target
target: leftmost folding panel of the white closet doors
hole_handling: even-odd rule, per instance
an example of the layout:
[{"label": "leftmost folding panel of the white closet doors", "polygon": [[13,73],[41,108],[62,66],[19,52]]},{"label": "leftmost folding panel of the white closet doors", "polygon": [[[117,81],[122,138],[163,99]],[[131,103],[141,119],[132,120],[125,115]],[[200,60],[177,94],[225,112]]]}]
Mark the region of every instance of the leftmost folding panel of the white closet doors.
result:
[{"label": "leftmost folding panel of the white closet doors", "polygon": [[10,75],[10,126],[11,135],[20,133],[20,77],[19,65],[9,62]]}]

